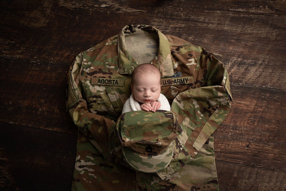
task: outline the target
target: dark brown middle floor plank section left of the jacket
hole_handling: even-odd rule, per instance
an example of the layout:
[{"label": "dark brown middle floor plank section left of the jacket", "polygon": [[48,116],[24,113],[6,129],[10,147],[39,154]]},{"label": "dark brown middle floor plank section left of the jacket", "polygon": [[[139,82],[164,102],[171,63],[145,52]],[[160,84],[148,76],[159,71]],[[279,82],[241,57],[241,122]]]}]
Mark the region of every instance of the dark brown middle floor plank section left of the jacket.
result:
[{"label": "dark brown middle floor plank section left of the jacket", "polygon": [[0,58],[0,68],[0,121],[76,134],[65,110],[68,65]]}]

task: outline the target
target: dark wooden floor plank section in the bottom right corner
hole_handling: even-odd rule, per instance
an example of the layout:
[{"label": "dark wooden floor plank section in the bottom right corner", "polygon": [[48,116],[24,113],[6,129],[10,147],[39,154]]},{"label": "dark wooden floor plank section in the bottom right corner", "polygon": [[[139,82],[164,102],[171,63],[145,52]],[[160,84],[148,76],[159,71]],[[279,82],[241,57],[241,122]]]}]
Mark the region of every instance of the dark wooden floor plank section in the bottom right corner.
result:
[{"label": "dark wooden floor plank section in the bottom right corner", "polygon": [[285,171],[216,160],[220,191],[286,190]]}]

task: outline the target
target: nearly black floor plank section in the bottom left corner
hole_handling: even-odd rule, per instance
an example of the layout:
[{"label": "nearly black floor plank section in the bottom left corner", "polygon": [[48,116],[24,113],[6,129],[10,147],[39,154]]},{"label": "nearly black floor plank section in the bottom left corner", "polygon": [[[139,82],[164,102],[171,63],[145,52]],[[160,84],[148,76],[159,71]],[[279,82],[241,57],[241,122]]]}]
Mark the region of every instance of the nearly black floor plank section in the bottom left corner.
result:
[{"label": "nearly black floor plank section in the bottom left corner", "polygon": [[0,190],[71,190],[76,139],[0,122]]}]

